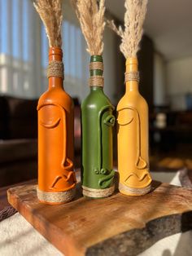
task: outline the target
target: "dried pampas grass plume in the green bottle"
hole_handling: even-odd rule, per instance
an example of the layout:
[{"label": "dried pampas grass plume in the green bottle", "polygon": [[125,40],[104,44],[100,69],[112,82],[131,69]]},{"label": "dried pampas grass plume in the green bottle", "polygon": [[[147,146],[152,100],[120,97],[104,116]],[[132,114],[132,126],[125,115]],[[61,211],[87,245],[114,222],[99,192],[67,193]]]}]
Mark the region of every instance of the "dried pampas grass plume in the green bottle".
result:
[{"label": "dried pampas grass plume in the green bottle", "polygon": [[105,0],[71,0],[90,55],[102,55]]}]

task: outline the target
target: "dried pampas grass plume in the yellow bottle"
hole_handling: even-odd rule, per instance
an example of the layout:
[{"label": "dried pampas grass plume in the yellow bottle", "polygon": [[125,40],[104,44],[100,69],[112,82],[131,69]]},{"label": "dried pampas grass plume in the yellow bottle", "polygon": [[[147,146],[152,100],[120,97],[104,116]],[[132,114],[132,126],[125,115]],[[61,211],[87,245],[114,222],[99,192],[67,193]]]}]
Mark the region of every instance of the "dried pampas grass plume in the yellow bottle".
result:
[{"label": "dried pampas grass plume in the yellow bottle", "polygon": [[148,0],[125,0],[124,31],[121,27],[117,29],[113,20],[107,21],[108,26],[120,36],[120,51],[126,59],[137,56],[147,2]]}]

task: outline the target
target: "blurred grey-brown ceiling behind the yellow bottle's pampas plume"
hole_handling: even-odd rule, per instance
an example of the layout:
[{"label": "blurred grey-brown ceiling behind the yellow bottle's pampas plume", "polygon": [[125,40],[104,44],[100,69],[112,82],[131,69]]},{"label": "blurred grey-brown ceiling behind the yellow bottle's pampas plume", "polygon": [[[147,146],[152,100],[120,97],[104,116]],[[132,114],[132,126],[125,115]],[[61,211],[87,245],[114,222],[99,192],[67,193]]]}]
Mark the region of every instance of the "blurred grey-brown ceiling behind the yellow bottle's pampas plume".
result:
[{"label": "blurred grey-brown ceiling behind the yellow bottle's pampas plume", "polygon": [[[107,10],[124,20],[124,0],[106,0]],[[192,1],[149,0],[145,33],[165,60],[192,56]]]}]

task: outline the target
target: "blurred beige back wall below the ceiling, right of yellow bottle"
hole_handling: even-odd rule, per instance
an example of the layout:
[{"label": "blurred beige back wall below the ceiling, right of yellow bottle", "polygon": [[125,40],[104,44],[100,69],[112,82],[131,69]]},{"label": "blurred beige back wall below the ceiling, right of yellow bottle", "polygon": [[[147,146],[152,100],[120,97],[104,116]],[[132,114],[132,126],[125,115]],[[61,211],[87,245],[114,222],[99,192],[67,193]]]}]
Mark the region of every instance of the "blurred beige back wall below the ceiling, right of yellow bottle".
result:
[{"label": "blurred beige back wall below the ceiling, right of yellow bottle", "polygon": [[154,55],[154,103],[170,104],[172,110],[185,110],[185,95],[192,93],[192,56],[165,62]]}]

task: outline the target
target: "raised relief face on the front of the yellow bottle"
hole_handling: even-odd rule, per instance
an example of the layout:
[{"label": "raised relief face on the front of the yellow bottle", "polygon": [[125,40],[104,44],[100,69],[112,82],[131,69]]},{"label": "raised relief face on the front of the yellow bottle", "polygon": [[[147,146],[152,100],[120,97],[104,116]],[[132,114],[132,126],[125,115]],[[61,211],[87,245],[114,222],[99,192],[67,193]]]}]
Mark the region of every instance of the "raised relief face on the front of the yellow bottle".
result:
[{"label": "raised relief face on the front of the yellow bottle", "polygon": [[[133,186],[137,181],[140,183],[150,182],[146,161],[142,158],[141,149],[141,119],[137,109],[133,107],[122,108],[117,117],[118,133],[123,133],[124,148],[122,152],[124,161],[123,181]],[[122,138],[121,138],[122,139]]]}]

